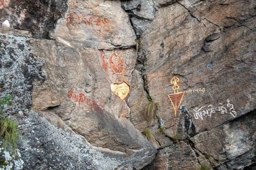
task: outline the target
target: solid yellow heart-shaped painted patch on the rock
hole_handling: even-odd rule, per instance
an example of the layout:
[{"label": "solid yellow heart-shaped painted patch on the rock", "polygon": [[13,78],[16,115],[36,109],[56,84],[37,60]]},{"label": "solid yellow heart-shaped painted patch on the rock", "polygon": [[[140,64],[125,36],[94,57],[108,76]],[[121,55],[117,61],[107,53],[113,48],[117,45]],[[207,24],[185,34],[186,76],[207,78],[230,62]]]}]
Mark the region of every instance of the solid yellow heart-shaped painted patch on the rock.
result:
[{"label": "solid yellow heart-shaped painted patch on the rock", "polygon": [[127,85],[125,82],[121,84],[111,84],[110,85],[111,91],[120,99],[125,100],[125,98],[128,96],[130,93],[130,86]]}]

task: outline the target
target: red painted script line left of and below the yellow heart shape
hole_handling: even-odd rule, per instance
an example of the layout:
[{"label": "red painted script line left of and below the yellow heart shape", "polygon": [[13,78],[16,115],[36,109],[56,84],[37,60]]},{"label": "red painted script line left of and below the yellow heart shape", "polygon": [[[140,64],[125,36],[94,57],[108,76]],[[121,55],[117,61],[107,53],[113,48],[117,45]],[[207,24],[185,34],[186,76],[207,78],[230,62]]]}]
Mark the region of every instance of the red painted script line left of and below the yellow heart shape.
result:
[{"label": "red painted script line left of and below the yellow heart shape", "polygon": [[91,111],[95,111],[98,113],[103,113],[103,106],[99,106],[94,100],[87,98],[84,93],[75,94],[73,89],[68,91],[68,98],[76,103],[78,106],[81,106],[83,103],[87,106],[91,107]]}]

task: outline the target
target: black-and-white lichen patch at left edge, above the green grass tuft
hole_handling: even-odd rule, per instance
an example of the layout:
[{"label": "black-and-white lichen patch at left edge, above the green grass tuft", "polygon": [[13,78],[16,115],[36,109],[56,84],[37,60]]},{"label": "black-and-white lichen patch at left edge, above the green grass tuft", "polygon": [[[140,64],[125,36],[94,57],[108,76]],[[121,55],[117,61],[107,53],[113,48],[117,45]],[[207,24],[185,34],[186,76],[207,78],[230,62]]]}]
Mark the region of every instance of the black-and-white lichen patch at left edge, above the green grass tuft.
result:
[{"label": "black-and-white lichen patch at left edge, above the green grass tuft", "polygon": [[[3,27],[1,30],[8,32],[9,28]],[[12,114],[32,106],[33,81],[36,79],[43,83],[47,77],[44,70],[41,70],[44,62],[34,58],[28,46],[30,39],[23,37],[23,35],[0,35],[1,96],[5,94],[13,96],[12,107],[7,108],[8,113]]]}]

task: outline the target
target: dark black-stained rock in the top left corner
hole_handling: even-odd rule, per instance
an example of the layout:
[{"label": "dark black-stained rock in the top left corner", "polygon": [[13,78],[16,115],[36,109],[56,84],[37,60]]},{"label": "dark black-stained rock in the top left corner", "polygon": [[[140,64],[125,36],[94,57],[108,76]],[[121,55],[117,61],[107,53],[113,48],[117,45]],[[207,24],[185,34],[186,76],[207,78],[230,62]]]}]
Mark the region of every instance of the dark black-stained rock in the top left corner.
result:
[{"label": "dark black-stained rock in the top left corner", "polygon": [[12,28],[30,31],[35,38],[48,38],[55,22],[64,17],[67,10],[64,0],[2,0],[0,22],[8,19]]}]

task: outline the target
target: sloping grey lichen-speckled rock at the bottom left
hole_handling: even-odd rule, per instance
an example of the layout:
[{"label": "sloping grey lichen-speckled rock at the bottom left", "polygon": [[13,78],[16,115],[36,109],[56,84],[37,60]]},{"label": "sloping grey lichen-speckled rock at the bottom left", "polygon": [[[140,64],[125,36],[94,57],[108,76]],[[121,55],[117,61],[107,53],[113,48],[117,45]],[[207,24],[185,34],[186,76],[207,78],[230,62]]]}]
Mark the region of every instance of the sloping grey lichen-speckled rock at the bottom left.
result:
[{"label": "sloping grey lichen-speckled rock at the bottom left", "polygon": [[83,138],[58,129],[33,112],[17,117],[21,137],[19,148],[24,169],[114,169],[124,154],[107,156],[87,144]]}]

